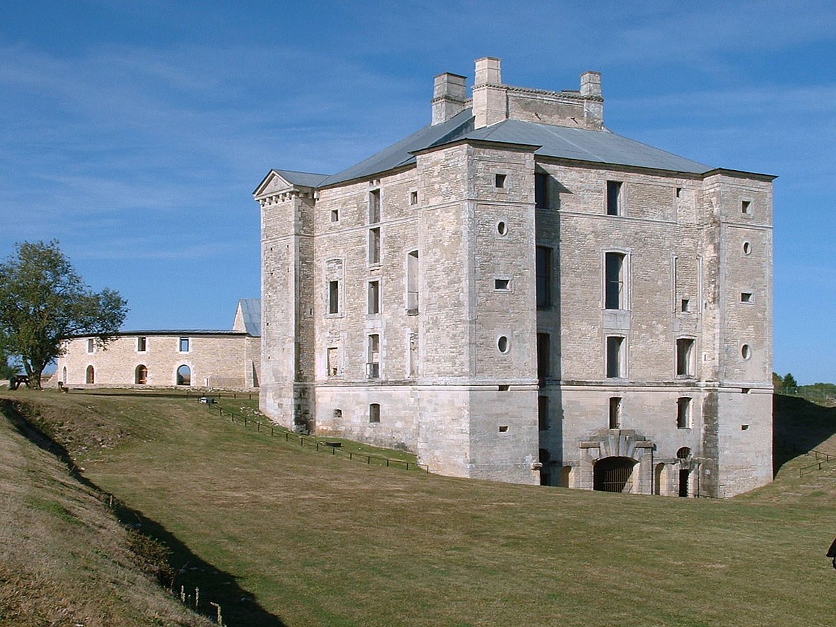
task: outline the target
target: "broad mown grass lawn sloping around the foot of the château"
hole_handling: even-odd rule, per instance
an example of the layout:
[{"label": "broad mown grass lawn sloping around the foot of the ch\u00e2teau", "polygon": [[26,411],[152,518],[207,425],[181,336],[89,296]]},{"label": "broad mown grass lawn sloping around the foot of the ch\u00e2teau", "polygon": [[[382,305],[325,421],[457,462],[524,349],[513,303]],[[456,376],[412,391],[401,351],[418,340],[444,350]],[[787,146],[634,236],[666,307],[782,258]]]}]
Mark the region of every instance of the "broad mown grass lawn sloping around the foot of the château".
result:
[{"label": "broad mown grass lawn sloping around the foot of the ch\u00e2teau", "polygon": [[831,622],[836,474],[789,451],[836,452],[836,410],[780,400],[777,481],[721,502],[367,466],[194,400],[4,395],[38,402],[232,625]]}]

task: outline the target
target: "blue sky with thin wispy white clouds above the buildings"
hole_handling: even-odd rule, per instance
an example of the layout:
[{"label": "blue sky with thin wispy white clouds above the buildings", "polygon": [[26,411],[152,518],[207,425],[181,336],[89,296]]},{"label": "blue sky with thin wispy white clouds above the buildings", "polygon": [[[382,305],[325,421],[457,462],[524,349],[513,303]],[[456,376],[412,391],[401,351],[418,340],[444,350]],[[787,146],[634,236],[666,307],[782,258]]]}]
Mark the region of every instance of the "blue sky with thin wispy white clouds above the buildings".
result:
[{"label": "blue sky with thin wispy white clouds above the buildings", "polygon": [[836,381],[832,2],[8,3],[0,257],[58,238],[126,329],[258,296],[270,168],[342,170],[429,122],[432,77],[578,89],[610,130],[775,181],[774,368]]}]

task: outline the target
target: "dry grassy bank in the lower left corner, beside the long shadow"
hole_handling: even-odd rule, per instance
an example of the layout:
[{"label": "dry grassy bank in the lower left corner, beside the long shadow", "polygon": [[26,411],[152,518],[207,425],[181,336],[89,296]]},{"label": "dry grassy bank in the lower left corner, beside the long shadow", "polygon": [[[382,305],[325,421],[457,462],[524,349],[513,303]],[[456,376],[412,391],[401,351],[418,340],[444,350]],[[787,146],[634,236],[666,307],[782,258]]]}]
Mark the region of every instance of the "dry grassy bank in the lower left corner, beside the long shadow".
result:
[{"label": "dry grassy bank in the lower left corner, beside the long shadow", "polygon": [[0,415],[0,624],[210,624],[141,572],[140,538],[25,431]]}]

